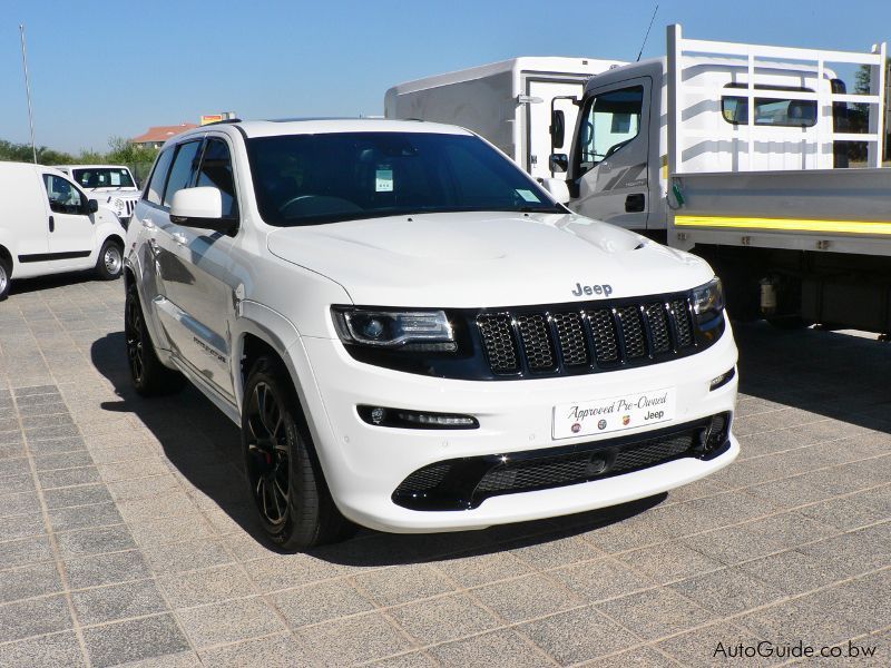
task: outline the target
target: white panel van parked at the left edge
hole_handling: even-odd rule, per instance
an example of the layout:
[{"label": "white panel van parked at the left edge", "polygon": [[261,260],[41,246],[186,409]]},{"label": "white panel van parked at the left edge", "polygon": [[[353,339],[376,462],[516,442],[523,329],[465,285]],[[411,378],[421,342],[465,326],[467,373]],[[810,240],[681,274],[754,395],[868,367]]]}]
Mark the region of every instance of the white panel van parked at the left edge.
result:
[{"label": "white panel van parked at the left edge", "polygon": [[13,278],[90,268],[106,279],[120,275],[120,220],[61,171],[0,163],[0,299]]}]

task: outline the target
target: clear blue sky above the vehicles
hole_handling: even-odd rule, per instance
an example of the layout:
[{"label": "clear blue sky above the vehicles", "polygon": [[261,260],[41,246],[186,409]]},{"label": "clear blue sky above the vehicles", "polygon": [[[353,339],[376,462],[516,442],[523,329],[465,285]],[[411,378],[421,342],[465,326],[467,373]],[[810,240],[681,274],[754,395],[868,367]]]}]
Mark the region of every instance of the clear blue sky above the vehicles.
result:
[{"label": "clear blue sky above the vehicles", "polygon": [[[0,139],[29,140],[19,23],[37,143],[76,151],[225,110],[382,114],[394,84],[515,56],[633,60],[654,4],[0,0]],[[702,39],[865,51],[891,41],[891,0],[663,0],[645,58],[673,22]]]}]

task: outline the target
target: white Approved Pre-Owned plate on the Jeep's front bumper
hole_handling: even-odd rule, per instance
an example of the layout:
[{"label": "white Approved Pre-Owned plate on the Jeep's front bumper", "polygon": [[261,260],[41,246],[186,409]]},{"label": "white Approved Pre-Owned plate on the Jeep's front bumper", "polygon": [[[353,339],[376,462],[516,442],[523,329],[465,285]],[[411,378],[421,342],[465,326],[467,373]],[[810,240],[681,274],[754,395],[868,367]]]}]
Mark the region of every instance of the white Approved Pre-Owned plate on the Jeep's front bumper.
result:
[{"label": "white Approved Pre-Owned plate on the Jeep's front bumper", "polygon": [[554,406],[554,438],[571,439],[634,429],[675,416],[675,389],[663,387]]}]

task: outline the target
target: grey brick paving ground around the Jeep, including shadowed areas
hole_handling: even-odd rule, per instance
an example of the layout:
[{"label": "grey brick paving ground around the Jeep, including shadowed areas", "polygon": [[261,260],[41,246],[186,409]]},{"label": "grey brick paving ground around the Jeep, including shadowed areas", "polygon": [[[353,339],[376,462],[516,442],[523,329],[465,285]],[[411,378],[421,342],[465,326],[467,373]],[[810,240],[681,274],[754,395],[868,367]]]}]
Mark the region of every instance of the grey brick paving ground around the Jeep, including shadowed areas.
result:
[{"label": "grey brick paving ground around the Jeep, including shadowed areas", "polygon": [[236,428],[130,390],[123,303],[65,276],[0,304],[0,666],[891,665],[891,344],[738,326],[742,455],[667,495],[284,556]]}]

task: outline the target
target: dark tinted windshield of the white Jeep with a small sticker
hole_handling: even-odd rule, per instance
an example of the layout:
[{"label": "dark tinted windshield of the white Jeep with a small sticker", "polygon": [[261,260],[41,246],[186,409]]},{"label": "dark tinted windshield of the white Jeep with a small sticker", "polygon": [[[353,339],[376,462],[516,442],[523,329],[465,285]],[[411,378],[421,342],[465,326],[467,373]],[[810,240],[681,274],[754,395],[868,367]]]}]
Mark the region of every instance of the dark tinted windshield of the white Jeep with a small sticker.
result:
[{"label": "dark tinted windshield of the white Jeep with a small sticker", "polygon": [[296,226],[403,214],[564,213],[478,137],[340,132],[247,140],[263,219]]}]

